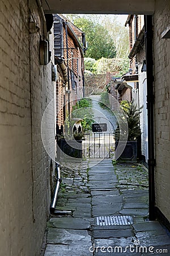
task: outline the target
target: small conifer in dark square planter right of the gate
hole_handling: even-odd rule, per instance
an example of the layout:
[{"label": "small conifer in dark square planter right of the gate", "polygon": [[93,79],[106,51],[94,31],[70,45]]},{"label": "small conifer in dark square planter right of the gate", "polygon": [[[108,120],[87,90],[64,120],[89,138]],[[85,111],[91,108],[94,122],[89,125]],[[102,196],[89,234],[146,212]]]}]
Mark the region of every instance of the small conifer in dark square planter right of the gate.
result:
[{"label": "small conifer in dark square planter right of the gate", "polygon": [[[129,101],[122,101],[121,108],[124,110],[126,120],[124,119],[123,122],[128,122],[128,141],[121,141],[120,140],[120,125],[117,123],[117,129],[114,132],[115,135],[115,148],[116,148],[116,160],[117,162],[137,162],[137,139],[141,135],[140,129],[140,121],[139,121],[139,114],[142,112],[142,108],[137,108],[137,104],[135,104],[134,100],[131,102]],[[126,133],[127,131],[121,131],[121,133]],[[124,147],[121,155],[117,150],[118,143],[120,147]]]}]

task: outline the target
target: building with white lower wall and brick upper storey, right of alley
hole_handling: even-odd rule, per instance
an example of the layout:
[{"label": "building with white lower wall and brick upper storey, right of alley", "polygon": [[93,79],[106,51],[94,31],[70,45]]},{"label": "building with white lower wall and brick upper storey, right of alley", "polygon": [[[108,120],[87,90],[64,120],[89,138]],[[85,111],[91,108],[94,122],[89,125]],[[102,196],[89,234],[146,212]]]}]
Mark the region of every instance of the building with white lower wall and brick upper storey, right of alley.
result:
[{"label": "building with white lower wall and brick upper storey, right of alley", "polygon": [[140,114],[141,126],[141,153],[148,160],[148,125],[147,125],[147,77],[146,77],[146,53],[145,53],[145,27],[144,15],[129,15],[125,26],[129,26],[129,59],[130,69],[137,76],[134,83],[133,98],[138,108],[143,106]]}]

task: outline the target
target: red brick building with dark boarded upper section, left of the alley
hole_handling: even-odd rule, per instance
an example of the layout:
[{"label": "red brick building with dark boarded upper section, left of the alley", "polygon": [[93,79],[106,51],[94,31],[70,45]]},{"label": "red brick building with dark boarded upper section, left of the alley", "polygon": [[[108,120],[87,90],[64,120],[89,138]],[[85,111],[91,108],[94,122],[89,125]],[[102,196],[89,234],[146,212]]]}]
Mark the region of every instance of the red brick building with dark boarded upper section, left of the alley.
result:
[{"label": "red brick building with dark boarded upper section, left of the alley", "polygon": [[57,125],[83,97],[85,35],[63,15],[54,14],[54,56],[57,64]]}]

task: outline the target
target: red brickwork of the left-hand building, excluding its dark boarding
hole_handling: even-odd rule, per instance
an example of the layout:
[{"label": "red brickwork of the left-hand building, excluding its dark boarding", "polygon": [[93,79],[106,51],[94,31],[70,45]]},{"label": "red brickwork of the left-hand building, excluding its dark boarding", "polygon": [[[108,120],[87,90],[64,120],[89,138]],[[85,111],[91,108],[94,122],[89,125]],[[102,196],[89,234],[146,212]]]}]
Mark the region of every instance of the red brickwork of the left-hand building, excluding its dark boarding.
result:
[{"label": "red brickwork of the left-hand building, excluding its dark boarding", "polygon": [[[84,62],[82,59],[82,55],[80,53],[80,49],[75,45],[75,42],[71,35],[69,35],[69,31],[67,34],[67,43],[68,49],[66,45],[66,30],[63,27],[63,55],[65,59],[65,64],[70,71],[74,72],[74,81],[76,82],[76,87],[72,89],[71,84],[71,75],[69,72],[69,84],[68,82],[64,85],[64,81],[62,79],[62,72],[58,72],[58,81],[57,81],[57,124],[59,126],[63,125],[64,120],[64,113],[63,113],[63,105],[64,105],[64,96],[65,95],[65,114],[69,113],[69,106],[68,106],[68,94],[65,92],[67,89],[71,91],[70,94],[70,113],[73,108],[73,105],[76,103],[77,98],[81,98],[83,96],[83,68]],[[68,51],[68,58],[67,58],[67,51]],[[80,77],[79,77],[80,76]],[[64,85],[64,87],[63,87]]]}]

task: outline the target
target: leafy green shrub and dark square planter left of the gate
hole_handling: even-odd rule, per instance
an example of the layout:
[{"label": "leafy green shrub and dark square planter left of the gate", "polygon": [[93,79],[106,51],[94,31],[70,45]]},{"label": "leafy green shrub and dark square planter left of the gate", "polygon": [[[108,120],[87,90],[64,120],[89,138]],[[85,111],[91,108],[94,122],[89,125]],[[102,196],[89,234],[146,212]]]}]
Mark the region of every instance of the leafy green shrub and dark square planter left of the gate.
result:
[{"label": "leafy green shrub and dark square planter left of the gate", "polygon": [[59,158],[61,156],[82,158],[84,134],[91,130],[91,123],[94,122],[91,107],[92,104],[89,99],[80,99],[73,106],[70,117],[66,117],[62,129],[58,129],[57,144],[61,149],[58,150]]}]

